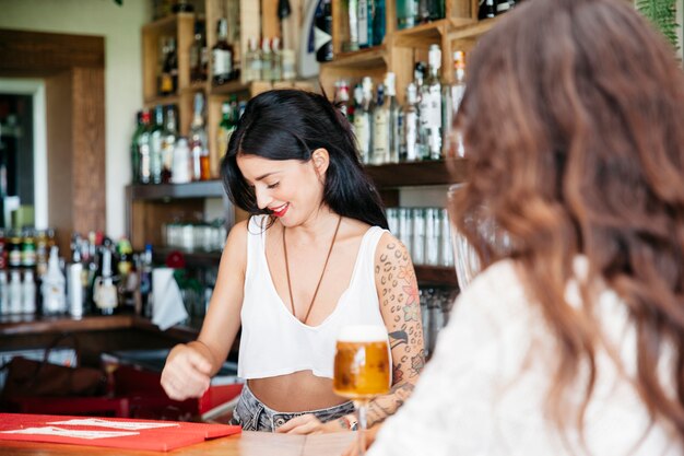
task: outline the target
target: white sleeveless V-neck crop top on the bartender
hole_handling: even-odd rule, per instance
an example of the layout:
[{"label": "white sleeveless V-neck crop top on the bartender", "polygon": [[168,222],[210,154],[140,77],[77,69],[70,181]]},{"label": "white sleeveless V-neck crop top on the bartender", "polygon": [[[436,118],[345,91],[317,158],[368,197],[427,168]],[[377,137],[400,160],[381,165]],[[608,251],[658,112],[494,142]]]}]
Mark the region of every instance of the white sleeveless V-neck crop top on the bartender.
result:
[{"label": "white sleeveless V-neck crop top on the bartender", "polygon": [[385,325],[375,287],[375,250],[385,230],[370,227],[361,242],[349,288],[318,326],[299,321],[275,291],[266,258],[266,215],[252,217],[247,234],[243,332],[237,374],[264,378],[311,371],[332,378],[335,339],[346,325]]}]

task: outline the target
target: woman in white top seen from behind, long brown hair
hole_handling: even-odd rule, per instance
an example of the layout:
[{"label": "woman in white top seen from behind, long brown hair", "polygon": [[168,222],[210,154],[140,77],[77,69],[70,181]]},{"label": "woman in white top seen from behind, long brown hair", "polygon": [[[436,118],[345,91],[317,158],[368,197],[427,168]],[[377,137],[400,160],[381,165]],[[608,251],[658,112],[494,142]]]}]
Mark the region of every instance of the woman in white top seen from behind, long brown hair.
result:
[{"label": "woman in white top seen from behind, long brown hair", "polygon": [[[528,0],[469,59],[458,229],[491,258],[379,455],[684,452],[684,75],[622,0]],[[503,254],[469,220],[485,208]]]}]

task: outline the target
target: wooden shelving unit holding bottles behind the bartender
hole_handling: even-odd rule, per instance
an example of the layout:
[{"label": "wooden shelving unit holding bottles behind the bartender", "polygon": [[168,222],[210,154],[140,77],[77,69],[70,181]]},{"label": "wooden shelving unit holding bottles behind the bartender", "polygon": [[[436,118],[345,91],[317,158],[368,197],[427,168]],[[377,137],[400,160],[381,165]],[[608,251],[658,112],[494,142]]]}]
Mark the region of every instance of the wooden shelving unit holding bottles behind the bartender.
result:
[{"label": "wooden shelving unit holding bottles behind the bartender", "polygon": [[[205,0],[207,45],[216,42],[215,24],[219,17],[228,11],[239,11],[239,34],[237,52],[245,56],[248,38],[272,37],[280,34],[275,7],[271,0]],[[291,0],[294,9],[302,5],[299,0]],[[446,17],[427,24],[420,24],[406,30],[398,30],[394,2],[386,3],[386,36],[382,43],[353,52],[344,51],[349,37],[345,24],[345,0],[332,0],[333,55],[330,62],[320,65],[318,82],[326,94],[334,93],[338,79],[351,81],[369,75],[375,83],[380,82],[385,73],[392,71],[397,75],[397,95],[404,103],[405,86],[413,80],[413,67],[416,61],[427,60],[427,49],[438,44],[443,49],[443,80],[453,80],[452,51],[463,49],[467,52],[476,39],[486,33],[497,20],[477,21],[477,0],[446,0]],[[263,14],[263,15],[260,15]],[[298,14],[298,12],[297,12]],[[145,58],[144,103],[153,106],[157,103],[177,104],[180,116],[180,131],[187,133],[191,117],[192,96],[197,92],[207,97],[207,125],[210,140],[211,167],[215,180],[185,185],[129,186],[127,188],[127,220],[129,235],[134,248],[142,248],[145,242],[155,245],[155,260],[163,261],[170,248],[161,246],[161,226],[173,219],[193,218],[201,211],[205,198],[223,198],[227,227],[244,214],[235,214],[235,209],[224,197],[222,183],[217,179],[219,162],[222,151],[217,150],[216,133],[221,118],[221,105],[233,96],[248,100],[271,89],[299,87],[316,90],[311,81],[269,81],[245,82],[243,79],[223,85],[213,86],[211,81],[191,83],[189,80],[189,58],[181,49],[189,48],[193,34],[193,15],[176,14],[156,21],[143,27],[143,51]],[[176,34],[178,43],[178,92],[166,97],[158,97],[156,89],[156,48],[160,36]],[[181,44],[182,43],[182,44]],[[184,47],[187,46],[187,47]],[[209,69],[211,74],[211,68]],[[385,164],[367,166],[366,171],[378,186],[388,206],[397,204],[399,194],[405,187],[446,186],[463,182],[467,178],[467,161],[447,159],[415,163]],[[192,267],[216,266],[220,253],[182,252],[186,262]],[[457,287],[453,268],[416,266],[418,280],[425,284]]]}]

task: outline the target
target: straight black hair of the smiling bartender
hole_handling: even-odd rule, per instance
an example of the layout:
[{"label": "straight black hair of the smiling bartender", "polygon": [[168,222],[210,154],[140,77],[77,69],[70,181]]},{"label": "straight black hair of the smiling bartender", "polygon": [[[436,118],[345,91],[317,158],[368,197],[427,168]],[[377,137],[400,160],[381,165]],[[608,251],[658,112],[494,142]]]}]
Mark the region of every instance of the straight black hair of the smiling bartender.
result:
[{"label": "straight black hair of the smiling bartender", "polygon": [[308,162],[319,148],[330,156],[323,202],[340,215],[387,229],[380,196],[364,173],[349,121],[325,96],[312,92],[274,90],[247,103],[221,165],[228,198],[250,214],[270,213],[257,206],[237,156]]}]

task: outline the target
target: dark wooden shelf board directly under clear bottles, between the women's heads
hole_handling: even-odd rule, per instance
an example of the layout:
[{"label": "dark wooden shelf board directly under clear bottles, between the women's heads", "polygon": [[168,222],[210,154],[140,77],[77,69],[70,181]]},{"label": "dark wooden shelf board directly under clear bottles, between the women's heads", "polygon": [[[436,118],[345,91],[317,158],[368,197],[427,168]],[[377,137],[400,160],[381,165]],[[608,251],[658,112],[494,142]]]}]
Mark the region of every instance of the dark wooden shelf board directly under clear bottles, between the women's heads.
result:
[{"label": "dark wooden shelf board directly under clear bottles, between the women's heads", "polygon": [[378,188],[448,185],[464,182],[465,159],[393,163],[366,166],[366,173]]}]

